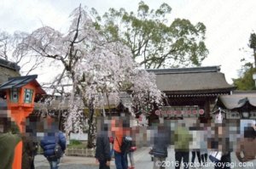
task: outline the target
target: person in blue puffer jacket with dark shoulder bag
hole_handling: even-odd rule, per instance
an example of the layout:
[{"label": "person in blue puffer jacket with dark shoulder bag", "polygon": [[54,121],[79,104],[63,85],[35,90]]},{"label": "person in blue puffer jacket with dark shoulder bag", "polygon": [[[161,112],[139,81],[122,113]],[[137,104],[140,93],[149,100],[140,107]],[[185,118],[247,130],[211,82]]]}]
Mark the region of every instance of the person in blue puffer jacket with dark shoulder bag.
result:
[{"label": "person in blue puffer jacket with dark shoulder bag", "polygon": [[61,157],[56,155],[55,146],[59,144],[61,151],[66,149],[66,138],[63,132],[60,132],[53,122],[54,119],[50,116],[47,117],[48,131],[44,132],[44,138],[40,141],[40,146],[44,149],[44,156],[49,161],[51,169],[58,169]]}]

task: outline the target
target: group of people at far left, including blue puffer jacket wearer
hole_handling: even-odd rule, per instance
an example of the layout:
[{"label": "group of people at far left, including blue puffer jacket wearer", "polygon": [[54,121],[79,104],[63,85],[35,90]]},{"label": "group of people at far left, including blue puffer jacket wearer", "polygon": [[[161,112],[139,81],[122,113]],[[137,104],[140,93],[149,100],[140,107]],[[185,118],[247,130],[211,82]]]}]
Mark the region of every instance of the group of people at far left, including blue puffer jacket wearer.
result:
[{"label": "group of people at far left, including blue puffer jacket wearer", "polygon": [[[58,169],[61,156],[66,149],[66,138],[59,131],[55,119],[49,115],[44,117],[44,137],[37,138],[32,126],[26,126],[26,132],[20,128],[9,115],[8,110],[0,111],[0,168],[12,169],[15,159],[15,148],[22,143],[21,169],[34,169],[34,157],[38,153],[38,146],[44,151],[49,161],[50,169]],[[23,124],[26,125],[26,124]],[[21,142],[22,141],[22,142]]]}]

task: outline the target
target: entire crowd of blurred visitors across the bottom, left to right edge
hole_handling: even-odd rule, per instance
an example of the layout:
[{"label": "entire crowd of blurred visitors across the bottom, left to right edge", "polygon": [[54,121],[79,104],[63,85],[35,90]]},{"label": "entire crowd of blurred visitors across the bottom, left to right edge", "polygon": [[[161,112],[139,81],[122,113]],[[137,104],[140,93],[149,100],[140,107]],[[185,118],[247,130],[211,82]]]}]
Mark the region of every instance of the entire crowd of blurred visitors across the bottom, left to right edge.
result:
[{"label": "entire crowd of blurred visitors across the bottom, left to right edge", "polygon": [[[5,112],[5,113],[3,113]],[[254,161],[256,155],[256,126],[255,121],[239,131],[236,123],[225,121],[223,123],[200,123],[198,120],[164,121],[151,127],[146,127],[147,138],[137,139],[143,135],[140,127],[133,125],[134,119],[128,117],[112,117],[98,121],[96,132],[96,162],[100,169],[109,169],[114,159],[116,169],[134,169],[134,152],[140,142],[151,146],[154,169],[165,166],[156,165],[157,161],[164,162],[168,157],[168,148],[173,146],[175,152],[175,169],[195,167],[195,158],[203,167],[209,159],[213,163],[222,165],[214,169],[230,169],[230,153],[236,153],[238,161]],[[230,124],[233,124],[230,125]],[[234,125],[235,124],[235,125]],[[235,129],[234,129],[235,127]],[[26,131],[30,128],[27,127]],[[22,140],[22,169],[35,168],[34,156],[38,146],[44,150],[44,156],[49,161],[51,169],[59,167],[61,156],[66,149],[66,138],[59,131],[52,117],[47,115],[44,123],[44,137],[39,144],[33,142],[32,132],[20,133],[19,127],[12,121],[8,111],[0,114],[0,164],[4,169],[12,168],[15,156],[15,146]],[[2,153],[4,152],[4,153]],[[189,154],[192,158],[189,161]],[[129,162],[128,162],[129,159]],[[130,165],[128,165],[130,164]],[[161,163],[160,163],[161,164]],[[192,165],[189,165],[192,164]]]}]

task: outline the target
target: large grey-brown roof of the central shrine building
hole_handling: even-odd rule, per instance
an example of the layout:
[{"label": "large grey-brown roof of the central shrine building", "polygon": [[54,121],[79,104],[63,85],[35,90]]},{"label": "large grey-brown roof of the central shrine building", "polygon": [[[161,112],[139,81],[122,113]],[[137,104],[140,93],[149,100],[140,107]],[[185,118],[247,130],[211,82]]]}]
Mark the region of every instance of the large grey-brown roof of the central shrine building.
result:
[{"label": "large grey-brown roof of the central shrine building", "polygon": [[208,66],[148,71],[154,72],[157,87],[165,93],[229,93],[235,87],[219,70],[219,66]]}]

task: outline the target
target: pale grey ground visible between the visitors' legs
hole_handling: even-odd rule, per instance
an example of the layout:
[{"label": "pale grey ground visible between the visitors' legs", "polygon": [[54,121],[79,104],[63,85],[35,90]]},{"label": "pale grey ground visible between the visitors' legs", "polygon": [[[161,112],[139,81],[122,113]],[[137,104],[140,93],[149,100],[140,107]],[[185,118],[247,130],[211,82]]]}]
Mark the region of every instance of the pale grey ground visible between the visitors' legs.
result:
[{"label": "pale grey ground visible between the visitors' legs", "polygon": [[[148,155],[149,148],[144,147],[137,149],[137,151],[134,153],[134,159],[135,159],[135,168],[136,169],[143,169],[143,168],[153,168],[154,162],[151,161],[150,155]],[[189,154],[189,158],[191,161],[191,153]],[[166,169],[174,169],[175,168],[175,161],[174,157],[174,150],[168,149],[168,157],[166,158]],[[197,157],[195,157],[195,162],[197,161]],[[209,159],[207,160],[208,162]],[[231,153],[231,161],[236,162],[238,164],[238,161],[236,159],[236,155],[234,153]],[[43,155],[37,155],[35,158],[35,166],[36,169],[49,169],[49,163],[44,158]],[[78,157],[78,156],[64,156],[61,158],[61,164],[60,169],[98,169],[99,166],[96,164],[95,158],[90,157]],[[191,168],[191,167],[189,167]],[[200,168],[200,167],[196,167]],[[203,166],[203,169],[213,169],[212,166]],[[233,167],[235,169],[247,169],[247,168],[253,168],[256,169],[256,162],[253,161],[253,166],[251,167]],[[111,169],[115,169],[114,161],[111,161]],[[183,167],[181,167],[183,169]]]}]

